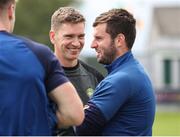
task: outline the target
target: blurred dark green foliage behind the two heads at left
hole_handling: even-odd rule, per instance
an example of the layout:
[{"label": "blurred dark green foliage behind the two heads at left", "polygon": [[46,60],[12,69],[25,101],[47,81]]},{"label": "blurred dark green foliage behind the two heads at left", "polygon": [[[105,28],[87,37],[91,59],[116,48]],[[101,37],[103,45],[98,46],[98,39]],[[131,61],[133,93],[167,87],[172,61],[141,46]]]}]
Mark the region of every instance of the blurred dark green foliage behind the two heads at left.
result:
[{"label": "blurred dark green foliage behind the two heads at left", "polygon": [[51,15],[59,7],[72,2],[73,0],[19,0],[14,33],[51,45],[49,40]]}]

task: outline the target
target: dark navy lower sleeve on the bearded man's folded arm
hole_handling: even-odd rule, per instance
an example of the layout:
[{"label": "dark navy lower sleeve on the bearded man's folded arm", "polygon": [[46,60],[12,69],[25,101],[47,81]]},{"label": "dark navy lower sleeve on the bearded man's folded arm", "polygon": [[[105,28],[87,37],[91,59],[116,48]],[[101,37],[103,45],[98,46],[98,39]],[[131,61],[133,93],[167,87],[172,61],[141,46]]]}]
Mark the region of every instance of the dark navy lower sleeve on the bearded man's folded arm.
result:
[{"label": "dark navy lower sleeve on the bearded man's folded arm", "polygon": [[78,136],[101,135],[106,123],[104,115],[92,102],[88,102],[85,107],[85,119],[83,123],[76,127],[75,133]]}]

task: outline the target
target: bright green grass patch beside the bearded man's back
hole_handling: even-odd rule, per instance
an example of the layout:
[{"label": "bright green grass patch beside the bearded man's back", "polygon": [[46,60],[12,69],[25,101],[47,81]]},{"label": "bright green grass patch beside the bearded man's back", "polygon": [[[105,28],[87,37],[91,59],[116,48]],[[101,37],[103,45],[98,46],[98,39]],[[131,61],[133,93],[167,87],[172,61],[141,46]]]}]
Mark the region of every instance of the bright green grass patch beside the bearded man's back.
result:
[{"label": "bright green grass patch beside the bearded man's back", "polygon": [[180,136],[180,112],[157,112],[153,136]]}]

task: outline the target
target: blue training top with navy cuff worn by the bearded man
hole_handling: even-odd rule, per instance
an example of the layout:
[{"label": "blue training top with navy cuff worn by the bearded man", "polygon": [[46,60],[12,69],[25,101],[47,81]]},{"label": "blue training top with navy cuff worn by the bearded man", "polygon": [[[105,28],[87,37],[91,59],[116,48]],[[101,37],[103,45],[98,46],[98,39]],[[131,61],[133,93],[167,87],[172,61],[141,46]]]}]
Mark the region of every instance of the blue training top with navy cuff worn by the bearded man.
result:
[{"label": "blue training top with navy cuff worn by the bearded man", "polygon": [[150,79],[131,51],[106,66],[107,77],[87,103],[77,135],[150,136],[155,97]]}]

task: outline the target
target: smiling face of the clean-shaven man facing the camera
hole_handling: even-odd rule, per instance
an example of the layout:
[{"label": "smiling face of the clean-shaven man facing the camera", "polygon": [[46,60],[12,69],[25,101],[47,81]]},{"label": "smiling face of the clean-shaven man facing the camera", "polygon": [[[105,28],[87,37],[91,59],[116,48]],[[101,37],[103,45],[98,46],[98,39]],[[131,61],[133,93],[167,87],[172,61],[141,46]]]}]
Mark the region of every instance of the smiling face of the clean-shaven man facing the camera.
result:
[{"label": "smiling face of the clean-shaven man facing the camera", "polygon": [[55,55],[63,66],[72,67],[77,64],[77,59],[84,46],[84,28],[83,22],[63,23],[56,32],[50,32]]}]

